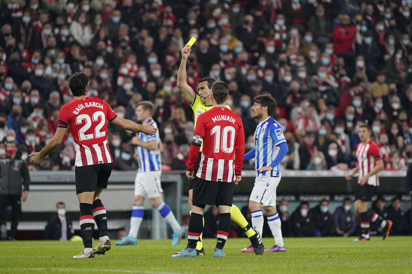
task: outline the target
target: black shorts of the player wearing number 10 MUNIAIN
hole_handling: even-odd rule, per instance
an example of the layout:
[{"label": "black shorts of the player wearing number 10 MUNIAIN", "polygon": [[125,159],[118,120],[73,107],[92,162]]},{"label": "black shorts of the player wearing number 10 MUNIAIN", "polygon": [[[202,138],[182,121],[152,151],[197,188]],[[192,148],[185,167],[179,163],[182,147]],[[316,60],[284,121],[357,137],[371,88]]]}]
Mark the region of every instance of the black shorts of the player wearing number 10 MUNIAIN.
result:
[{"label": "black shorts of the player wearing number 10 MUNIAIN", "polygon": [[194,178],[192,204],[197,207],[204,205],[228,205],[233,202],[233,182],[214,182]]}]

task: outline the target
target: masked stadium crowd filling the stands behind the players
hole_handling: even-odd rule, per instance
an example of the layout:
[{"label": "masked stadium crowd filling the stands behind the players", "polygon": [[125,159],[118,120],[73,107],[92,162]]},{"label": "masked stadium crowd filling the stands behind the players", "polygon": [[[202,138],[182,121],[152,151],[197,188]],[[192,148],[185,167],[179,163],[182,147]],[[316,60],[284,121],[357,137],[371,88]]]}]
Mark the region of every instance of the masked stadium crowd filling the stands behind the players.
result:
[{"label": "masked stadium crowd filling the stands behind the players", "polygon": [[[68,77],[84,71],[88,95],[120,117],[136,120],[136,104],[154,102],[164,169],[185,169],[193,113],[176,74],[180,49],[193,36],[187,82],[194,90],[205,76],[229,84],[247,150],[254,146],[252,99],[270,93],[288,141],[285,168],[353,168],[357,129],[366,122],[385,168],[405,170],[412,157],[411,8],[411,0],[2,1],[0,140],[16,140],[23,159],[38,151],[72,98]],[[135,170],[133,136],[109,131],[115,169]],[[72,144],[68,134],[39,168],[73,169]]]}]

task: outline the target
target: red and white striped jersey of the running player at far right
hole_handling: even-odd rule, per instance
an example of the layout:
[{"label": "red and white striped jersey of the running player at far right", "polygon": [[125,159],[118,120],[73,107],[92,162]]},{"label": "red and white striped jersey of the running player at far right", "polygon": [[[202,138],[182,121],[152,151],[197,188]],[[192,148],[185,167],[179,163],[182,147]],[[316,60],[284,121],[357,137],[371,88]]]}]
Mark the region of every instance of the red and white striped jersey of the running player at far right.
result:
[{"label": "red and white striped jersey of the running player at far right", "polygon": [[[359,179],[375,168],[376,161],[382,159],[377,144],[372,140],[366,145],[362,142],[358,144],[356,147],[356,158],[358,158]],[[378,175],[375,174],[369,177],[367,184],[379,186]]]}]

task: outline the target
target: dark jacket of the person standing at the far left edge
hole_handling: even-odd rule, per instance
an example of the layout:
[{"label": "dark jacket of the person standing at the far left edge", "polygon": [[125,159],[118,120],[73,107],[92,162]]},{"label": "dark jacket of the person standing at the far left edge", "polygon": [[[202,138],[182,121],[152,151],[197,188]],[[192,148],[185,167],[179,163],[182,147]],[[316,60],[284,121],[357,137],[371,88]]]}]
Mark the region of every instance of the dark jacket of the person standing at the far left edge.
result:
[{"label": "dark jacket of the person standing at the far left edge", "polygon": [[21,185],[28,191],[30,176],[26,162],[10,158],[0,160],[0,193],[2,195],[21,195]]}]

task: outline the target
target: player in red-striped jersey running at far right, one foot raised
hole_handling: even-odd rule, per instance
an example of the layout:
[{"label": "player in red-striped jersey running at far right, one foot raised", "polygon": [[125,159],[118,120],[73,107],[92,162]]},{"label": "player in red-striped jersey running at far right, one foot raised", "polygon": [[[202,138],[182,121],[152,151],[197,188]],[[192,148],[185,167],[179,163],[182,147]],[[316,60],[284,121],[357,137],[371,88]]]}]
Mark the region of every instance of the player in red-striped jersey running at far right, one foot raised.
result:
[{"label": "player in red-striped jersey running at far right, one foot raised", "polygon": [[384,168],[384,162],[379,154],[377,144],[370,138],[370,127],[363,124],[359,127],[358,135],[361,143],[356,147],[356,157],[358,166],[346,175],[346,180],[351,180],[355,173],[359,172],[358,188],[355,192],[355,211],[361,216],[361,236],[355,241],[369,241],[369,225],[375,222],[382,228],[383,239],[389,235],[392,221],[387,221],[376,214],[373,210],[368,210],[368,204],[379,186],[377,173]]}]

